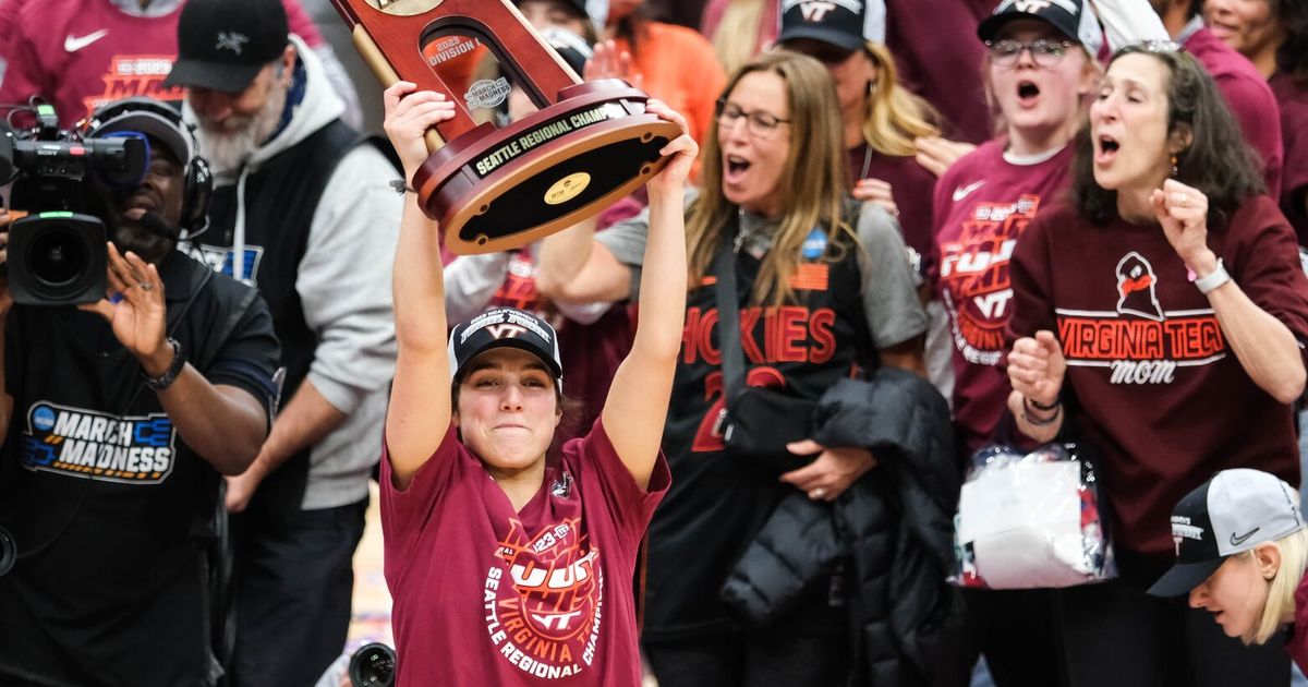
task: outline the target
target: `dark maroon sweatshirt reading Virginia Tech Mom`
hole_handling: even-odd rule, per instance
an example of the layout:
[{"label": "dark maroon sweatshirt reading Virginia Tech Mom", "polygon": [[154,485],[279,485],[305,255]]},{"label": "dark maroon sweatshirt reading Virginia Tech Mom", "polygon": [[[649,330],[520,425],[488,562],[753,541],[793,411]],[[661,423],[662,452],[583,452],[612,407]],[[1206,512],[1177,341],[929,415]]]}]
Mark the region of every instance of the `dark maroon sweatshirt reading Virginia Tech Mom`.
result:
[{"label": "dark maroon sweatshirt reading Virginia Tech Mom", "polygon": [[[1260,308],[1308,342],[1308,279],[1294,233],[1267,196],[1250,198],[1209,246]],[[1059,204],[1012,256],[1010,342],[1053,331],[1067,359],[1069,416],[1100,455],[1113,534],[1171,560],[1172,506],[1228,467],[1299,483],[1294,412],[1240,366],[1207,297],[1156,225],[1096,226]]]}]

